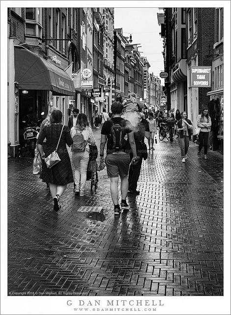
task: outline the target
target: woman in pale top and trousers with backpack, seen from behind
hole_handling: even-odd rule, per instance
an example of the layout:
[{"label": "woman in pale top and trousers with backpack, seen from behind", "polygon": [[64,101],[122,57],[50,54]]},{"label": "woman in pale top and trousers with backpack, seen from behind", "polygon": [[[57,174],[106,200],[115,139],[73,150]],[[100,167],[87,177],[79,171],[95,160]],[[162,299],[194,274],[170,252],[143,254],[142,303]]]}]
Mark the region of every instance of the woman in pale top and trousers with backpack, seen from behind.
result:
[{"label": "woman in pale top and trousers with backpack, seen from behind", "polygon": [[85,114],[79,114],[76,126],[71,128],[71,137],[74,142],[72,147],[72,161],[75,166],[75,193],[84,196],[89,160],[88,142],[91,145],[95,145],[95,138]]}]

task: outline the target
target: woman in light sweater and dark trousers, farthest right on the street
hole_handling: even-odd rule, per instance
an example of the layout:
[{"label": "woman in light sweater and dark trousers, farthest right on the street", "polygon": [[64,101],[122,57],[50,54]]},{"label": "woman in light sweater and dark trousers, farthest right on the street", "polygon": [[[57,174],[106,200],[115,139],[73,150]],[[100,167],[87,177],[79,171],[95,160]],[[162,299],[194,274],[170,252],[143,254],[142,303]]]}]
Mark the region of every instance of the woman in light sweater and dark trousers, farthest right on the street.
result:
[{"label": "woman in light sweater and dark trousers, farthest right on the street", "polygon": [[204,146],[204,159],[207,159],[208,151],[208,134],[211,131],[211,118],[208,116],[208,109],[202,108],[201,115],[197,117],[197,126],[201,128],[199,132],[199,151],[197,153],[198,157],[201,158],[202,146]]}]

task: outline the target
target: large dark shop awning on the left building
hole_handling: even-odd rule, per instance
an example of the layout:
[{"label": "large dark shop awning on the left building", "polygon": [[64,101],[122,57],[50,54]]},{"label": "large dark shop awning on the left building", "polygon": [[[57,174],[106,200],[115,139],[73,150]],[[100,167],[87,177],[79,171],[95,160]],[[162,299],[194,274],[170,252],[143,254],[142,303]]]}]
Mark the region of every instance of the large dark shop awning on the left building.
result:
[{"label": "large dark shop awning on the left building", "polygon": [[15,46],[15,81],[22,90],[75,95],[74,83],[65,71],[20,46]]}]

